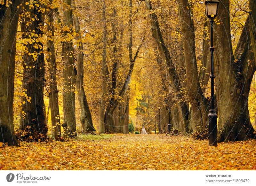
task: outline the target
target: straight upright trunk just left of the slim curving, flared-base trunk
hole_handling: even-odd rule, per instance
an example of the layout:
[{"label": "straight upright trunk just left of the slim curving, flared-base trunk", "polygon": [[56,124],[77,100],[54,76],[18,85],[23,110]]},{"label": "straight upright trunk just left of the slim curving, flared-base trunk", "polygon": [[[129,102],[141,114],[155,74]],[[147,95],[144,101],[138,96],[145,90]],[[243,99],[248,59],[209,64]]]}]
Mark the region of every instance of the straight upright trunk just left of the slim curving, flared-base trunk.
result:
[{"label": "straight upright trunk just left of the slim curving, flared-base trunk", "polygon": [[[73,29],[72,19],[72,0],[64,0],[66,7],[63,7],[64,25],[70,32]],[[62,59],[64,63],[63,69],[63,111],[65,132],[68,136],[77,136],[76,134],[76,102],[75,102],[75,83],[76,70],[74,68],[74,48],[72,40],[68,38],[68,31],[64,31],[65,41],[62,43]]]}]

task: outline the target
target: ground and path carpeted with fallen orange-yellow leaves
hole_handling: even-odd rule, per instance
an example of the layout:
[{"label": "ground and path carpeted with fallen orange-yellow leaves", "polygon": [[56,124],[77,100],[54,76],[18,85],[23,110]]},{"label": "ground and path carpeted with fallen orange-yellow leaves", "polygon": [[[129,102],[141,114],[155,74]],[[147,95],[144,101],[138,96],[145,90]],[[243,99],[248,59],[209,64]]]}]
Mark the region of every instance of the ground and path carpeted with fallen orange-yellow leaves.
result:
[{"label": "ground and path carpeted with fallen orange-yellow leaves", "polygon": [[213,147],[186,136],[117,134],[22,142],[0,147],[0,170],[256,170],[256,140]]}]

